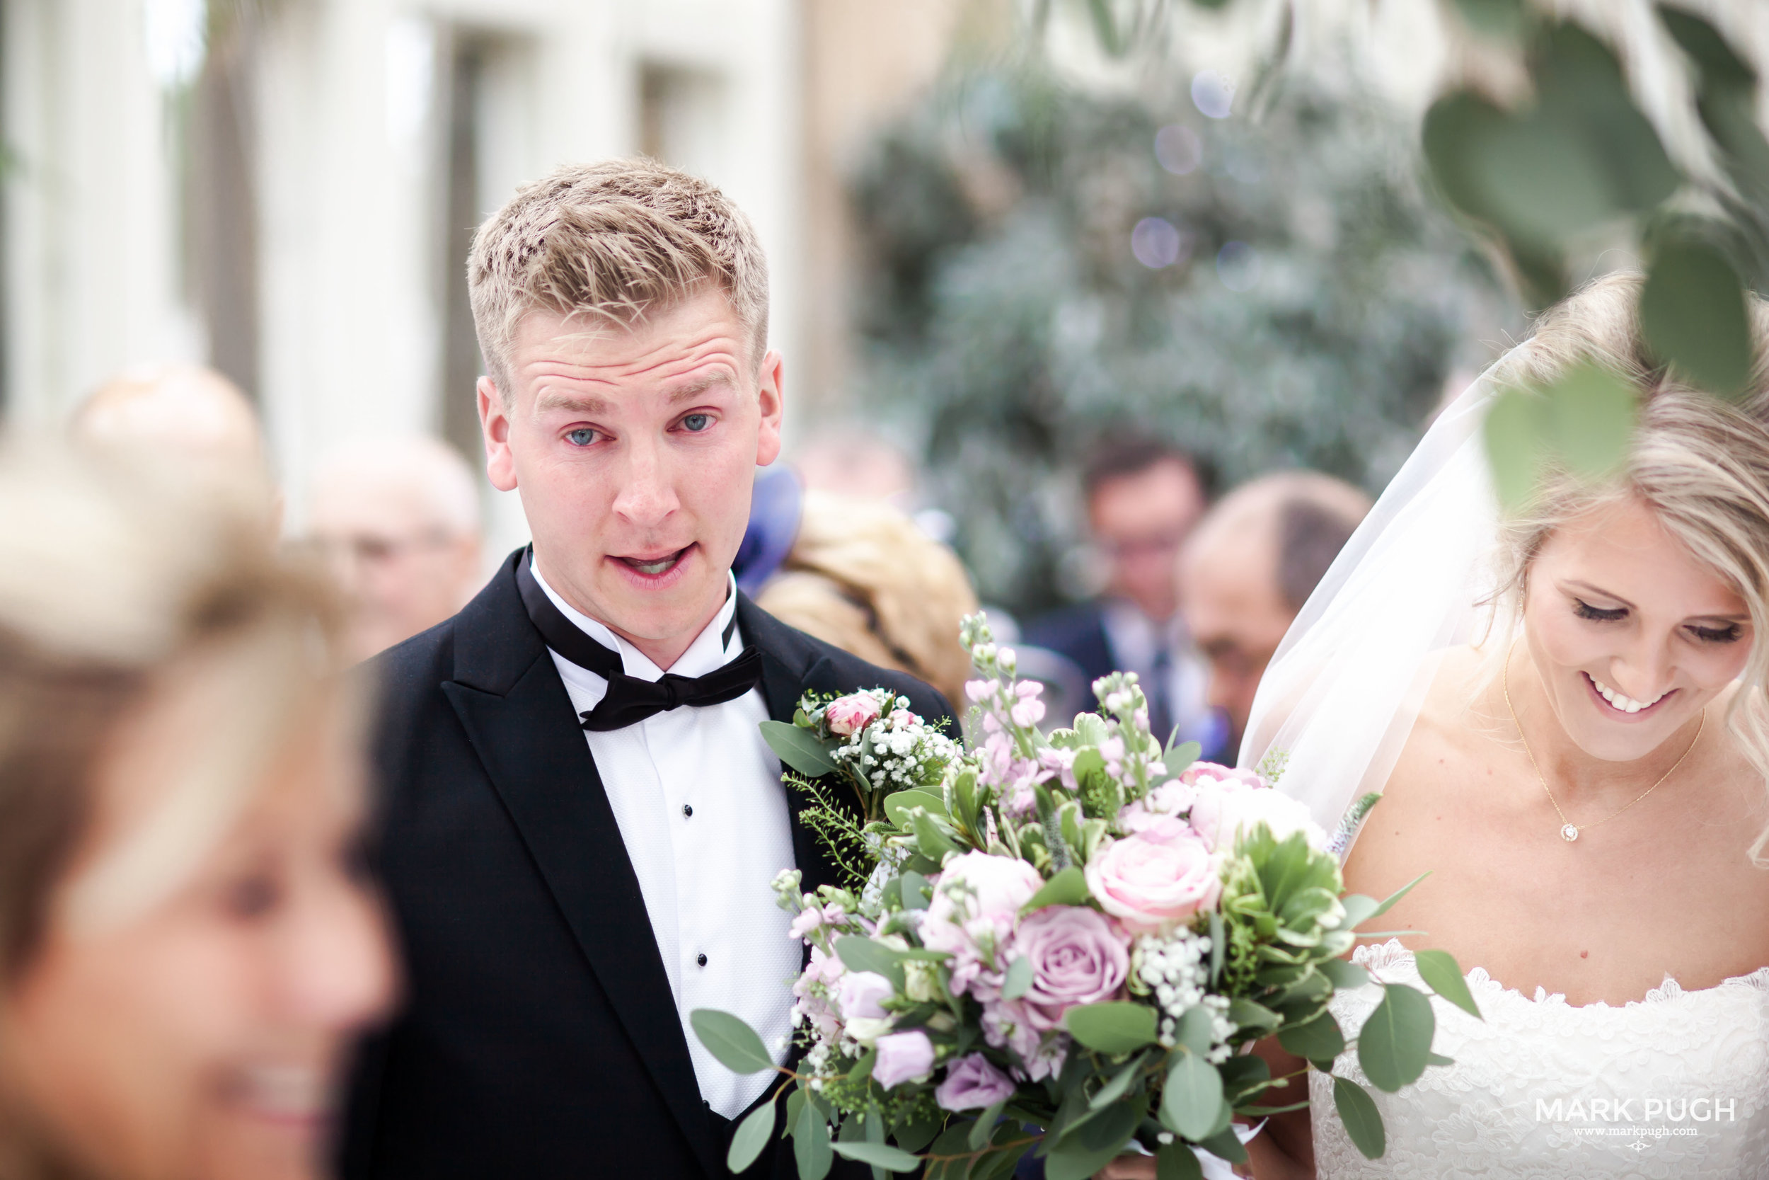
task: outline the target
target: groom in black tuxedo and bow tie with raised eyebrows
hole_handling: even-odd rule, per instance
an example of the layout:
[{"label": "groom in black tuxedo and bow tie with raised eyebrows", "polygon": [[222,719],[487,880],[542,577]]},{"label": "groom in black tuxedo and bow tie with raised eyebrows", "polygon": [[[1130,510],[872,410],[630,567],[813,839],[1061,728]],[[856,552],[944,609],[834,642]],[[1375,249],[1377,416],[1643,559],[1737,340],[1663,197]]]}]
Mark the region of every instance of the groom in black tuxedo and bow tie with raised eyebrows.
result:
[{"label": "groom in black tuxedo and bow tie with raised eyebrows", "polygon": [[[801,946],[770,881],[835,879],[757,725],[879,685],[952,709],[731,580],[782,364],[724,195],[649,161],[563,168],[479,228],[469,285],[488,471],[534,543],[375,665],[409,1000],[361,1051],[341,1169],[720,1176],[778,1077],[718,1065],[688,1012],[736,1012],[787,1060]],[[747,1175],[796,1175],[791,1146]]]}]

